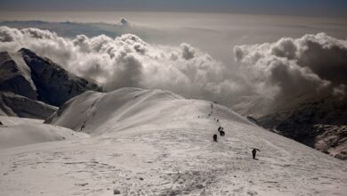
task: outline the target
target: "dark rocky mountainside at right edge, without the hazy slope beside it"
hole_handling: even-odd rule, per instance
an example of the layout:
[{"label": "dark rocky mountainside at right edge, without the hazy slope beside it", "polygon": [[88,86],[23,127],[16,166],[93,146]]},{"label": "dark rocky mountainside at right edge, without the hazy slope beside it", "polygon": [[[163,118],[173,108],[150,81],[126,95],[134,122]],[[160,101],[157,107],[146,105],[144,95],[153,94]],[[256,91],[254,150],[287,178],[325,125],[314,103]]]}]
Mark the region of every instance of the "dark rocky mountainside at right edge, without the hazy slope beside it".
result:
[{"label": "dark rocky mountainside at right edge, without the hazy slope beside it", "polygon": [[273,132],[338,159],[347,159],[347,101],[323,98],[258,118]]}]

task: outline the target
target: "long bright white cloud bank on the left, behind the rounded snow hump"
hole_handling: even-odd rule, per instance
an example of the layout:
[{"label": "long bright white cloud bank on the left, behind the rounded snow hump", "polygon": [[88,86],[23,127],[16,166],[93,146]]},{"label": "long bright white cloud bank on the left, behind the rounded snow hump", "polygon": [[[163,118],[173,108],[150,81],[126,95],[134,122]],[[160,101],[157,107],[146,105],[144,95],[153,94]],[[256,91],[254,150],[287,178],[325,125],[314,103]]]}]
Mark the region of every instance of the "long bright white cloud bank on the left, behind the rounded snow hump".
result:
[{"label": "long bright white cloud bank on the left, behind the rounded snow hump", "polygon": [[163,88],[188,97],[221,101],[240,90],[228,69],[188,44],[150,45],[140,37],[59,37],[42,29],[0,27],[0,50],[21,47],[49,57],[78,76],[112,90],[123,86]]}]

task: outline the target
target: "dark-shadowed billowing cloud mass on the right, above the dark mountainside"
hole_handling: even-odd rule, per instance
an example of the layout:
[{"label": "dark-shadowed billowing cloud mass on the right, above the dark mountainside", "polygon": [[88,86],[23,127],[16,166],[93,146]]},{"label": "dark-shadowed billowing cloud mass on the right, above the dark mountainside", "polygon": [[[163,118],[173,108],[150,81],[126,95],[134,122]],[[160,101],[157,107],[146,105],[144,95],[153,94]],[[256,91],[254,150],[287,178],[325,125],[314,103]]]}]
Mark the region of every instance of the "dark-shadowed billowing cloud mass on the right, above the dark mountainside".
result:
[{"label": "dark-shadowed billowing cloud mass on the right, above the dark mountainside", "polygon": [[[236,60],[263,96],[345,94],[347,41],[324,33],[275,43],[237,45]],[[265,90],[266,89],[266,90]]]}]

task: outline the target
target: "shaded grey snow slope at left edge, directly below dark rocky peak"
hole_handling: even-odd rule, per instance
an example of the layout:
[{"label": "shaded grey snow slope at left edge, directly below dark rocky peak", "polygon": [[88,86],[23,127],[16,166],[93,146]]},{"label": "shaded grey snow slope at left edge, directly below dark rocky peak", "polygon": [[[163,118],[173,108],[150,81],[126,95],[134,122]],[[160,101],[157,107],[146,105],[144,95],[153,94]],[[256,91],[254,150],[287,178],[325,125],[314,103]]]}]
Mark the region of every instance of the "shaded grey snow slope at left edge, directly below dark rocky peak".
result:
[{"label": "shaded grey snow slope at left edge, directly below dark rocky peak", "polygon": [[38,102],[27,97],[0,92],[0,115],[20,118],[45,119],[52,115],[57,107]]}]

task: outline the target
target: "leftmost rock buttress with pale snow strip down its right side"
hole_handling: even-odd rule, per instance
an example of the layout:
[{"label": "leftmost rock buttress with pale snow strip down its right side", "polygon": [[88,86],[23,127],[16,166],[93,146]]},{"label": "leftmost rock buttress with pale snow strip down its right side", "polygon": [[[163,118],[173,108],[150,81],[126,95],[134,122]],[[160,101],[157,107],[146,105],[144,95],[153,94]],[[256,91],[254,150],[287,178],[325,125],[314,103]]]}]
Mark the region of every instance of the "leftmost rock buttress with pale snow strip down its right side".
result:
[{"label": "leftmost rock buttress with pale snow strip down its right side", "polygon": [[[27,68],[26,68],[27,67]],[[0,91],[20,94],[36,100],[36,86],[30,78],[28,66],[13,60],[10,53],[0,53]]]}]

